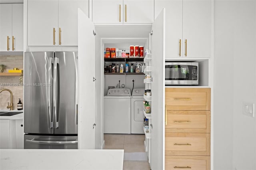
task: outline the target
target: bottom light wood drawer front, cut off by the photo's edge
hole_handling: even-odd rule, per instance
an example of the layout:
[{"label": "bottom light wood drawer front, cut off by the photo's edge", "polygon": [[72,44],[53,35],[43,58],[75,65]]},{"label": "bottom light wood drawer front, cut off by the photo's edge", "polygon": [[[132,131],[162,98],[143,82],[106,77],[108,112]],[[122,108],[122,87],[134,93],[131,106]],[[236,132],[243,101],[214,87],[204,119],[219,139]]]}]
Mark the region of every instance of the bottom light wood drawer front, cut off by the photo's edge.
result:
[{"label": "bottom light wood drawer front, cut off by the photo's edge", "polygon": [[210,156],[165,156],[166,170],[210,170]]}]

